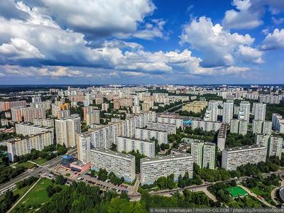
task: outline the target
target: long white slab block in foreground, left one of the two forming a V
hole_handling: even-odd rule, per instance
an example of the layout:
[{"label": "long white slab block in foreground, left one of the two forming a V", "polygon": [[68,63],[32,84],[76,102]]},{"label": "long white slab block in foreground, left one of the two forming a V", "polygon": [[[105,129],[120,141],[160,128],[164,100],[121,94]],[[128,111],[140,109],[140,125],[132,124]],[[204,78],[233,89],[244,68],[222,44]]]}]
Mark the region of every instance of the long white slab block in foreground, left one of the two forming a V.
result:
[{"label": "long white slab block in foreground, left one of the two forming a V", "polygon": [[107,170],[108,173],[113,172],[117,177],[124,178],[126,182],[133,182],[136,178],[133,155],[93,148],[91,150],[91,169],[99,171],[100,168]]}]

